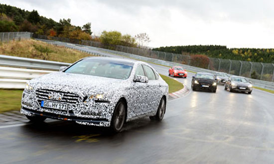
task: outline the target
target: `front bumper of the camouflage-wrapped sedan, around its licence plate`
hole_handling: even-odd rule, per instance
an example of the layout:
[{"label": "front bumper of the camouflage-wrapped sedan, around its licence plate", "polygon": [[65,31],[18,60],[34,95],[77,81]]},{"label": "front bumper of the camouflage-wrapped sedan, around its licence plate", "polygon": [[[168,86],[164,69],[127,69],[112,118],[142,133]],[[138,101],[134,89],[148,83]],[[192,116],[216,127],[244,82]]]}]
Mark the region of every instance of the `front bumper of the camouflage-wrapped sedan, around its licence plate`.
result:
[{"label": "front bumper of the camouflage-wrapped sedan, around its licence plate", "polygon": [[69,110],[58,110],[41,107],[35,94],[23,92],[21,106],[21,113],[28,116],[40,115],[51,119],[75,121],[82,125],[109,127],[115,104],[90,100],[71,104]]}]

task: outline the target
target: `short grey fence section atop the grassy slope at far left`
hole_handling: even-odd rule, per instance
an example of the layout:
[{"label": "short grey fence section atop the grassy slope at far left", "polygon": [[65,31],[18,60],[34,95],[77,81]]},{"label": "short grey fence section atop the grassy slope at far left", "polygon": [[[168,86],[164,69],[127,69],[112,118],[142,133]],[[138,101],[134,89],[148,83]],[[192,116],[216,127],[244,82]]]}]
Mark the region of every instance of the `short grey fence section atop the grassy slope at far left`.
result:
[{"label": "short grey fence section atop the grassy slope at far left", "polygon": [[0,42],[8,42],[10,40],[30,39],[30,32],[0,32]]}]

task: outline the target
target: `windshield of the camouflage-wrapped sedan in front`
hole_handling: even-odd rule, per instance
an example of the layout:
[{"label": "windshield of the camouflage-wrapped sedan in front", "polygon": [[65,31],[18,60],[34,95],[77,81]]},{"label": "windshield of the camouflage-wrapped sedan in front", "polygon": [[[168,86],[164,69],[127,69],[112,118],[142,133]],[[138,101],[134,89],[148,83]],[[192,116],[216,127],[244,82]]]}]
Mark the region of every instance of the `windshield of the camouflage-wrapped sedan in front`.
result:
[{"label": "windshield of the camouflage-wrapped sedan in front", "polygon": [[91,75],[97,77],[128,79],[133,66],[108,60],[84,59],[68,68],[65,73]]}]

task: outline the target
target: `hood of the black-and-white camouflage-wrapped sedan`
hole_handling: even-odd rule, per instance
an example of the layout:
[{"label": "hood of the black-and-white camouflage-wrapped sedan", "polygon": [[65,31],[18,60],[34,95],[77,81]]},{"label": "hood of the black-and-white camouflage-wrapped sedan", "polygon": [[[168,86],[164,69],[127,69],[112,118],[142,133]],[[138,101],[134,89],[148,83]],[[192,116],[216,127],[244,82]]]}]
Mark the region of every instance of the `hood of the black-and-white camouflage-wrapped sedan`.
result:
[{"label": "hood of the black-and-white camouflage-wrapped sedan", "polygon": [[58,72],[33,79],[29,84],[34,89],[40,88],[87,94],[110,92],[120,87],[125,87],[127,82],[127,80]]}]

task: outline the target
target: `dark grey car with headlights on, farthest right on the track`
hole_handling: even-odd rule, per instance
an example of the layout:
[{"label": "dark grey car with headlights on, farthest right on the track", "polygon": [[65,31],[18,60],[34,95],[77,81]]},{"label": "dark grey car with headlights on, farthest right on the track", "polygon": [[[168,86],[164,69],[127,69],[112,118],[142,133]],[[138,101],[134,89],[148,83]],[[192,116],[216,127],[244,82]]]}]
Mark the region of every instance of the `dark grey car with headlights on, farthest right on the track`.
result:
[{"label": "dark grey car with headlights on, farthest right on the track", "polygon": [[251,94],[252,92],[252,84],[247,81],[244,77],[232,76],[229,77],[225,83],[225,90],[229,88],[229,91],[240,91],[240,92],[248,92]]}]

